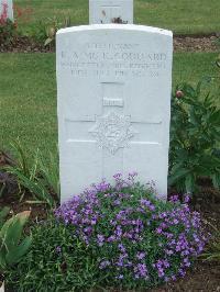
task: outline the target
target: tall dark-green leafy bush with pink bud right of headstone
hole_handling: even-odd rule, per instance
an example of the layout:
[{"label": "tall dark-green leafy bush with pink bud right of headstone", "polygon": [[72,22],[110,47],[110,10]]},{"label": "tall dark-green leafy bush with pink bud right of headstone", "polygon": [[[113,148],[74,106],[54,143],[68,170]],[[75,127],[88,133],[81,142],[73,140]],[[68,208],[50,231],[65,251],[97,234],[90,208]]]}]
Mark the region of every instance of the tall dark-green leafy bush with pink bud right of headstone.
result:
[{"label": "tall dark-green leafy bush with pink bud right of headstone", "polygon": [[201,82],[184,83],[173,96],[169,184],[180,191],[194,192],[200,177],[220,187],[220,110],[201,92]]}]

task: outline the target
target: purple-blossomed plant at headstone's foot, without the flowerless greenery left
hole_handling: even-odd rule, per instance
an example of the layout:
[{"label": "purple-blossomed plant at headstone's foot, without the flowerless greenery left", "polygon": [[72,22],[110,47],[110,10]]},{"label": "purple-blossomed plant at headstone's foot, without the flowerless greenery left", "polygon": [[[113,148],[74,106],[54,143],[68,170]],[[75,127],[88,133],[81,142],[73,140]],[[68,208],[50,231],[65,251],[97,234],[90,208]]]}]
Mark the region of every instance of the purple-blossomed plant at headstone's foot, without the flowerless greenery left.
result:
[{"label": "purple-blossomed plant at headstone's foot, without the flowerless greenery left", "polygon": [[105,284],[151,287],[183,277],[205,246],[200,216],[185,196],[164,202],[151,186],[114,176],[55,212],[96,259]]}]

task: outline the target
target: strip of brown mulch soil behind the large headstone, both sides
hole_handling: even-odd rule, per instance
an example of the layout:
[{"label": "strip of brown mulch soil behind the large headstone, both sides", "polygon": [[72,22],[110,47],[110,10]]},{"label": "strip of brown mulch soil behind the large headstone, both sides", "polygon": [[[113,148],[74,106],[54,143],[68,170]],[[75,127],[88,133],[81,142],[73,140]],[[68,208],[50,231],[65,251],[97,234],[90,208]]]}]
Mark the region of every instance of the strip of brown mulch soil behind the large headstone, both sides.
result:
[{"label": "strip of brown mulch soil behind the large headstone, both sides", "polygon": [[[18,36],[6,45],[0,44],[0,53],[52,53],[54,47],[45,47],[26,36]],[[220,36],[193,35],[174,36],[174,52],[220,52]]]}]

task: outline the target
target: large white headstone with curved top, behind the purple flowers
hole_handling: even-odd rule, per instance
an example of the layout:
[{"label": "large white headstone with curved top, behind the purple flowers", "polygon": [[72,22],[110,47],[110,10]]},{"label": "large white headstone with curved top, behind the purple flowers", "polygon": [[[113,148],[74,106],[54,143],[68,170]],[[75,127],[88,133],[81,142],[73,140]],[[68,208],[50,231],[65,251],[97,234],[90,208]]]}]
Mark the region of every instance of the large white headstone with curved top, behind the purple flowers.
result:
[{"label": "large white headstone with curved top, behind the purple flowers", "polygon": [[166,198],[172,32],[101,24],[56,40],[62,202],[131,171]]}]

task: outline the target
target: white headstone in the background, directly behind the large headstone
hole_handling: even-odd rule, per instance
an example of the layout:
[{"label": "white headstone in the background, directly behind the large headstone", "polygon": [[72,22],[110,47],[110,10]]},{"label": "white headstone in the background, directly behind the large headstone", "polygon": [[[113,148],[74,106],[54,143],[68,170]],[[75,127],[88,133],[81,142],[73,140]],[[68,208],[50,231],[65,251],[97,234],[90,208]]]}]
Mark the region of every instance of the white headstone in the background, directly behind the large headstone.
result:
[{"label": "white headstone in the background, directly behind the large headstone", "polygon": [[89,0],[89,23],[133,23],[133,0]]}]

